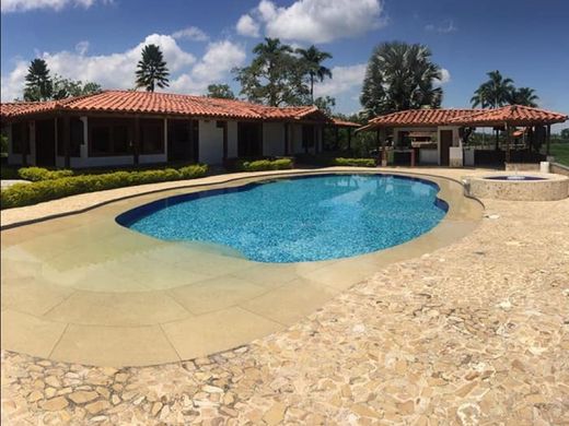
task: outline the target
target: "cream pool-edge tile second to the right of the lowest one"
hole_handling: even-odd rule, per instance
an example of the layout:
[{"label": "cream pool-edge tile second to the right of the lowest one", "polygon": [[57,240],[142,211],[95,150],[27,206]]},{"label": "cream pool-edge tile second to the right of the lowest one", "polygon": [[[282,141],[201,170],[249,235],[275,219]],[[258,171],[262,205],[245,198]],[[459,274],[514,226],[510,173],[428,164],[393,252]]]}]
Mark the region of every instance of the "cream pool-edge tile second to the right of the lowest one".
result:
[{"label": "cream pool-edge tile second to the right of the lowest one", "polygon": [[314,312],[337,292],[307,280],[294,280],[281,287],[240,304],[240,307],[282,324],[293,324]]}]

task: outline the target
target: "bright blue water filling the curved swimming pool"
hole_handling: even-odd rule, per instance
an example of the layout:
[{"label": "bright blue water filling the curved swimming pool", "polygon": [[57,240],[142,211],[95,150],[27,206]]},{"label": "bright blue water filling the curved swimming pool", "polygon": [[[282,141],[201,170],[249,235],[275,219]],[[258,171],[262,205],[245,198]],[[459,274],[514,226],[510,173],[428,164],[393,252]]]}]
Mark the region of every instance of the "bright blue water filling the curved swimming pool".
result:
[{"label": "bright blue water filling the curved swimming pool", "polygon": [[251,260],[337,259],[408,241],[448,205],[427,180],[324,175],[257,182],[154,201],[117,222],[164,239],[229,246]]}]

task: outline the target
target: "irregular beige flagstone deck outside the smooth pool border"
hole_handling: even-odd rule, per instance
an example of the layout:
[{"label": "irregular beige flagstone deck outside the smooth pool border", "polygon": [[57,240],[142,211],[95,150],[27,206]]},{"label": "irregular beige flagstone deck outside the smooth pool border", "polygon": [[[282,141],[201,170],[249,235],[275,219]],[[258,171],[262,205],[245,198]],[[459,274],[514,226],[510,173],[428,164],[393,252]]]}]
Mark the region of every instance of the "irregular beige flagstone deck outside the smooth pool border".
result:
[{"label": "irregular beige flagstone deck outside the smooth pool border", "polygon": [[2,424],[569,424],[569,199],[483,201],[466,237],[233,351],[121,369],[3,351]]}]

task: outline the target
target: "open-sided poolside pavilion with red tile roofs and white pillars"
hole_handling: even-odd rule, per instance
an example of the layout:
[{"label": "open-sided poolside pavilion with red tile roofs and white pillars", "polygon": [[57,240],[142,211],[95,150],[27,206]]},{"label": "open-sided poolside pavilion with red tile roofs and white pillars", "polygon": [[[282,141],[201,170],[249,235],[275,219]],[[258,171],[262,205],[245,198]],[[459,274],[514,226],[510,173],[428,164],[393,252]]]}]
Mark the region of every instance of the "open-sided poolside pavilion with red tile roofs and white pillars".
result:
[{"label": "open-sided poolside pavilion with red tile roofs and white pillars", "polygon": [[[491,109],[409,109],[378,116],[358,131],[375,131],[378,145],[383,149],[391,133],[396,163],[461,167],[545,159],[534,142],[545,143],[549,154],[550,126],[568,118],[565,114],[521,105]],[[469,134],[480,127],[506,134],[501,150],[498,143],[487,147],[468,145]],[[513,140],[520,135],[527,137],[514,146]]]}]

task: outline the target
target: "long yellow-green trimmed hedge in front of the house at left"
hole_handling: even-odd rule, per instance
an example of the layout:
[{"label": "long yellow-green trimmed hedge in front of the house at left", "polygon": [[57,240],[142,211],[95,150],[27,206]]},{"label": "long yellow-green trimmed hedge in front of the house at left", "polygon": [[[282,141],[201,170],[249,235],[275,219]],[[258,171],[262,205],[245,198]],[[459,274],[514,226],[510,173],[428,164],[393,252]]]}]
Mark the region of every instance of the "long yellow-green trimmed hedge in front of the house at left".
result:
[{"label": "long yellow-green trimmed hedge in front of the house at left", "polygon": [[59,179],[16,184],[0,192],[2,209],[21,208],[84,192],[202,177],[207,165],[160,170],[115,171],[103,175],[68,176]]}]

